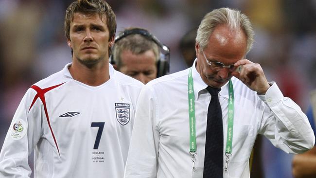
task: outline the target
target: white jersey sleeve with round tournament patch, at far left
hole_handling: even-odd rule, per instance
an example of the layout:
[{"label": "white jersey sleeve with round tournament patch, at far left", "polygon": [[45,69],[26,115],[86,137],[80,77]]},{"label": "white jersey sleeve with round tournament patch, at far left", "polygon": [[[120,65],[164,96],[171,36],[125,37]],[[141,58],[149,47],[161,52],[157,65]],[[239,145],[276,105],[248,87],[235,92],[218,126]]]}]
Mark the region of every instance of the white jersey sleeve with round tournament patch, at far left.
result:
[{"label": "white jersey sleeve with round tournament patch, at far left", "polygon": [[[12,119],[0,152],[1,178],[29,178],[28,156],[40,138],[41,113],[39,101],[32,102],[35,91],[29,89]],[[36,105],[37,104],[37,105]]]}]

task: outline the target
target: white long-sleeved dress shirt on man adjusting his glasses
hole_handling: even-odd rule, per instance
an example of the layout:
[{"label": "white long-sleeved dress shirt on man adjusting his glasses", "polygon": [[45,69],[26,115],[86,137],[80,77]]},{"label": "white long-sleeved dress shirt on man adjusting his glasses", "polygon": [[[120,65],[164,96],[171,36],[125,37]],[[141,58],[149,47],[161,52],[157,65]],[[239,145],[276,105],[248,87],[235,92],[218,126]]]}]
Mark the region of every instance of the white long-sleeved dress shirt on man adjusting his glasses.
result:
[{"label": "white long-sleeved dress shirt on man adjusting his glasses", "polygon": [[[207,111],[211,95],[193,64],[196,117],[196,171],[189,154],[189,69],[160,77],[142,89],[135,116],[125,178],[202,178]],[[249,157],[257,134],[263,134],[286,153],[313,147],[315,137],[306,115],[274,83],[257,95],[233,77],[234,126],[232,156],[224,178],[249,178]],[[223,162],[228,123],[228,84],[219,101],[224,126]],[[223,165],[224,166],[224,165]]]}]

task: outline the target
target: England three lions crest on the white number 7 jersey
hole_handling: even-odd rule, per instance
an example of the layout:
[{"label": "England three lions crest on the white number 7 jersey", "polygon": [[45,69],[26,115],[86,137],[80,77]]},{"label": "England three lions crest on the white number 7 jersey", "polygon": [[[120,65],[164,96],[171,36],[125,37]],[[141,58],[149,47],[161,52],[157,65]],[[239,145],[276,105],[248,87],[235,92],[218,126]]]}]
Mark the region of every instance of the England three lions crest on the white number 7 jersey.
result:
[{"label": "England three lions crest on the white number 7 jersey", "polygon": [[130,119],[130,108],[127,103],[115,103],[116,120],[121,125],[126,125]]}]

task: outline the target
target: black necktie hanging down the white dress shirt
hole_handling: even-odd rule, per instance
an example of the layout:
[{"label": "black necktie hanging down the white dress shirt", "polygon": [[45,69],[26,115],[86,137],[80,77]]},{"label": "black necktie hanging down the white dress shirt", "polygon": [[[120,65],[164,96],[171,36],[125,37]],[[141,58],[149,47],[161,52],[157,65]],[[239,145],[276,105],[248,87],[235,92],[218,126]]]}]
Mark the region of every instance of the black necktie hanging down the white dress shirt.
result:
[{"label": "black necktie hanging down the white dress shirt", "polygon": [[223,178],[223,120],[218,100],[221,89],[206,88],[211,94],[206,126],[203,178]]}]

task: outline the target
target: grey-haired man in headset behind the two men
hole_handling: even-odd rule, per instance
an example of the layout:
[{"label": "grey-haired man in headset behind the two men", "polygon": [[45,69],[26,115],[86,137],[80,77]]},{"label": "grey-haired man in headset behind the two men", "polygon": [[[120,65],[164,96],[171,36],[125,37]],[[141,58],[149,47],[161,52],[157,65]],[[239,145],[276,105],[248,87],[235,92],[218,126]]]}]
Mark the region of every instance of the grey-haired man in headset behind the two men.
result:
[{"label": "grey-haired man in headset behind the two men", "polygon": [[147,30],[134,27],[125,29],[115,38],[111,63],[116,70],[146,84],[166,74],[168,57],[168,47]]}]

